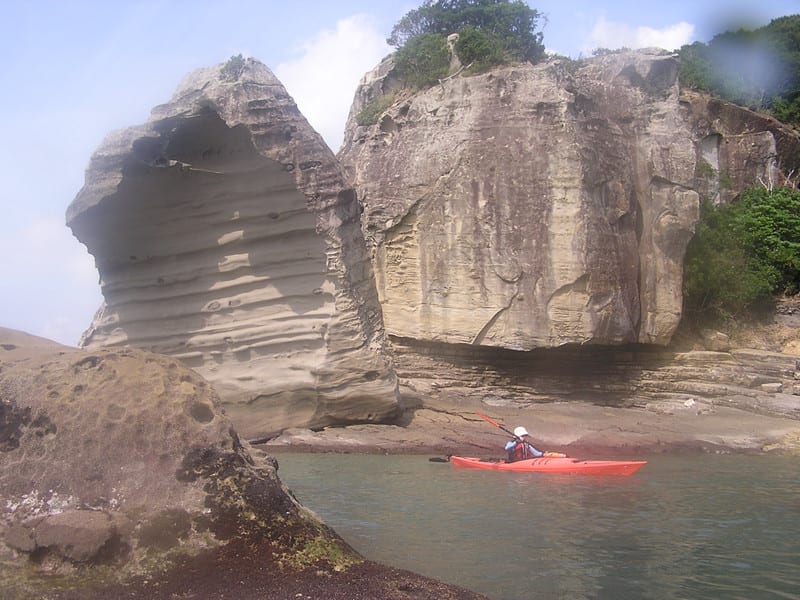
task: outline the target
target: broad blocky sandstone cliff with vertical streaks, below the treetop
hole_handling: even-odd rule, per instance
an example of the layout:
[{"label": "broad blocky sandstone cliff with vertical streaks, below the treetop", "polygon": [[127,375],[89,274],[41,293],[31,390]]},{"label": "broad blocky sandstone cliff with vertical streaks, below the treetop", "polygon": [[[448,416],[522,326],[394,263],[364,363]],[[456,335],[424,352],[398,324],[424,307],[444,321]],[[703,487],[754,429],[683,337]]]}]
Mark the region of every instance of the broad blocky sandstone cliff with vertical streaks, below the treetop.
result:
[{"label": "broad blocky sandstone cliff with vertical streaks, below the treetop", "polygon": [[[768,133],[737,140],[758,142],[745,161],[754,155],[731,150],[732,131],[698,130],[662,51],[507,67],[411,96],[391,73],[389,59],[363,80],[339,157],[399,338],[667,344],[700,193],[719,195],[745,162],[734,184],[775,178]],[[379,122],[357,126],[388,93],[397,99]],[[702,186],[701,160],[715,174]]]}]

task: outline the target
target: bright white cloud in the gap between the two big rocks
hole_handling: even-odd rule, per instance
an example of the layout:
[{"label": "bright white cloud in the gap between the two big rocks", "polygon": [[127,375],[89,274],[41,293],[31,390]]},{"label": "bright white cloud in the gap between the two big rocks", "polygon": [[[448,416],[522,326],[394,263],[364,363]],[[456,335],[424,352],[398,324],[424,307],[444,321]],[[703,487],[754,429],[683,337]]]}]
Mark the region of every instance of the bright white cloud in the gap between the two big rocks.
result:
[{"label": "bright white cloud in the gap between the two big rocks", "polygon": [[391,51],[372,19],[355,15],[303,44],[302,55],[279,64],[275,75],[335,152],[358,82]]}]

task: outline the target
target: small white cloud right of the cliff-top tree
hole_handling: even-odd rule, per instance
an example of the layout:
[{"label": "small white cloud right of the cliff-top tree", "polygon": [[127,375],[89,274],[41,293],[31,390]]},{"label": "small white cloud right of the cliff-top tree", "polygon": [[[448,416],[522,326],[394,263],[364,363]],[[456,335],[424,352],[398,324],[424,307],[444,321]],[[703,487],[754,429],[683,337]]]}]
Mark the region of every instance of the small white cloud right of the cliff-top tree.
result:
[{"label": "small white cloud right of the cliff-top tree", "polygon": [[606,21],[600,17],[583,46],[585,54],[596,48],[665,48],[676,50],[694,38],[694,25],[681,21],[662,29],[653,27],[631,27],[626,23]]}]

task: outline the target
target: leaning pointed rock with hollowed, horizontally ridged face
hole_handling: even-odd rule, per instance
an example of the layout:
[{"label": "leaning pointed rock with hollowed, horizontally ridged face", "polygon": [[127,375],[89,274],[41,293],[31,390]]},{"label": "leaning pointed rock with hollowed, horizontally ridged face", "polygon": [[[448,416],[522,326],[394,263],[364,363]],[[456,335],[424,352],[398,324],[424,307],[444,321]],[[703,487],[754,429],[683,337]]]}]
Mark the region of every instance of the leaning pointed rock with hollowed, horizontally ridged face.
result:
[{"label": "leaning pointed rock with hollowed, horizontally ridged face", "polygon": [[180,358],[244,436],[396,410],[355,194],[264,65],[197,71],[110,135],[67,223],[105,299],[83,346]]}]

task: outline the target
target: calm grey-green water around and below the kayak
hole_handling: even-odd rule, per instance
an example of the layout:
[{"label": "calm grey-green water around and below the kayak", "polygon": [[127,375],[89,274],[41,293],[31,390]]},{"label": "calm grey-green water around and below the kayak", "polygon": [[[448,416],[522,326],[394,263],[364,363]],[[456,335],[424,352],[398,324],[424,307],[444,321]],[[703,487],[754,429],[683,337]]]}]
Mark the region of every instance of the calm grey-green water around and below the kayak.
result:
[{"label": "calm grey-green water around and below the kayak", "polygon": [[655,457],[630,477],[277,458],[298,499],[366,557],[495,600],[800,600],[797,458]]}]

